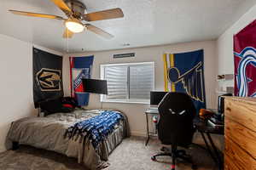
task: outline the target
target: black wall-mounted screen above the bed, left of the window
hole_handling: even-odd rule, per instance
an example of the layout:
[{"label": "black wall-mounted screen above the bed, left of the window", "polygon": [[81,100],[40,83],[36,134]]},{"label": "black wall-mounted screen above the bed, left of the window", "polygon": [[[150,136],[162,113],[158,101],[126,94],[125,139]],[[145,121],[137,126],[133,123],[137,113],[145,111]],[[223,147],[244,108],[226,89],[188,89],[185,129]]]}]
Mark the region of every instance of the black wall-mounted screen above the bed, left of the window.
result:
[{"label": "black wall-mounted screen above the bed, left of the window", "polygon": [[84,92],[91,94],[108,94],[107,81],[96,79],[82,79]]}]

